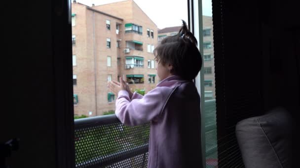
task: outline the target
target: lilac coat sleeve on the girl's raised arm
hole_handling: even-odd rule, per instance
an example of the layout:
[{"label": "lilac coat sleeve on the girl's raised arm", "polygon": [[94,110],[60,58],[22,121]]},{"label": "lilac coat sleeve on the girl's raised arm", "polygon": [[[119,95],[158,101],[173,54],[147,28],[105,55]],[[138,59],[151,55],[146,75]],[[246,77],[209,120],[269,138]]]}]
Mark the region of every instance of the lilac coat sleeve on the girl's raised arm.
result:
[{"label": "lilac coat sleeve on the girl's raised arm", "polygon": [[141,95],[140,99],[132,100],[127,91],[121,90],[115,102],[115,114],[124,125],[128,126],[150,122],[161,113],[172,90],[169,87],[156,87],[145,96]]}]

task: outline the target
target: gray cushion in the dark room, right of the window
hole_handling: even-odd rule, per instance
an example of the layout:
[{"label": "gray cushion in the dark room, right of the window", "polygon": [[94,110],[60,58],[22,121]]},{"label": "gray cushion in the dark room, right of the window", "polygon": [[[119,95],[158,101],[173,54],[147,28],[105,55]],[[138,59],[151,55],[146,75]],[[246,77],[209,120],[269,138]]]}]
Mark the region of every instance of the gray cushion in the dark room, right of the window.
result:
[{"label": "gray cushion in the dark room, right of the window", "polygon": [[292,118],[283,108],[244,119],[236,137],[246,168],[290,168]]}]

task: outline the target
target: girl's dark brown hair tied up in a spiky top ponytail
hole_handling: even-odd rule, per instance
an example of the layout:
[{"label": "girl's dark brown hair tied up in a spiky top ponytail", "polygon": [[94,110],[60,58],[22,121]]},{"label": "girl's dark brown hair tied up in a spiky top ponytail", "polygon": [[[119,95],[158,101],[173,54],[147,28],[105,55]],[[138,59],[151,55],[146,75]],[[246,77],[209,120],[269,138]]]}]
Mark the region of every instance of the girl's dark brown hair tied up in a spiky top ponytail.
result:
[{"label": "girl's dark brown hair tied up in a spiky top ponytail", "polygon": [[196,38],[188,30],[186,22],[184,20],[182,22],[183,26],[178,34],[164,38],[155,48],[154,56],[162,65],[172,65],[173,75],[192,80],[201,69],[202,58],[197,48]]}]

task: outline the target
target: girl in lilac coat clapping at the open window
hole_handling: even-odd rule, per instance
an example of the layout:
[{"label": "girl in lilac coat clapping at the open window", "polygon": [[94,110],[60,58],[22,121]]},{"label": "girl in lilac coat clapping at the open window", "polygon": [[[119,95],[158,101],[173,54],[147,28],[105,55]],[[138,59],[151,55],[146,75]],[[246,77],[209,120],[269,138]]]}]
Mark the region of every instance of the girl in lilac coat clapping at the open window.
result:
[{"label": "girl in lilac coat clapping at the open window", "polygon": [[121,78],[109,83],[118,95],[115,114],[124,125],[150,122],[148,168],[202,168],[200,96],[192,82],[202,58],[185,21],[154,56],[161,82],[145,96],[132,93]]}]

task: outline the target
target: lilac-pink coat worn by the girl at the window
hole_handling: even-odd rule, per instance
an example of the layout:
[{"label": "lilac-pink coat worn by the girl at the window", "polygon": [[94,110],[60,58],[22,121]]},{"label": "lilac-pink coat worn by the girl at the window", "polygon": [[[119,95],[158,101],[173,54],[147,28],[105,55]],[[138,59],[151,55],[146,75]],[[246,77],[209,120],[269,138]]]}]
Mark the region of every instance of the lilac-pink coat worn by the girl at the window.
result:
[{"label": "lilac-pink coat worn by the girl at the window", "polygon": [[191,81],[171,76],[131,99],[121,90],[115,114],[128,126],[150,122],[148,168],[202,168],[200,96]]}]

